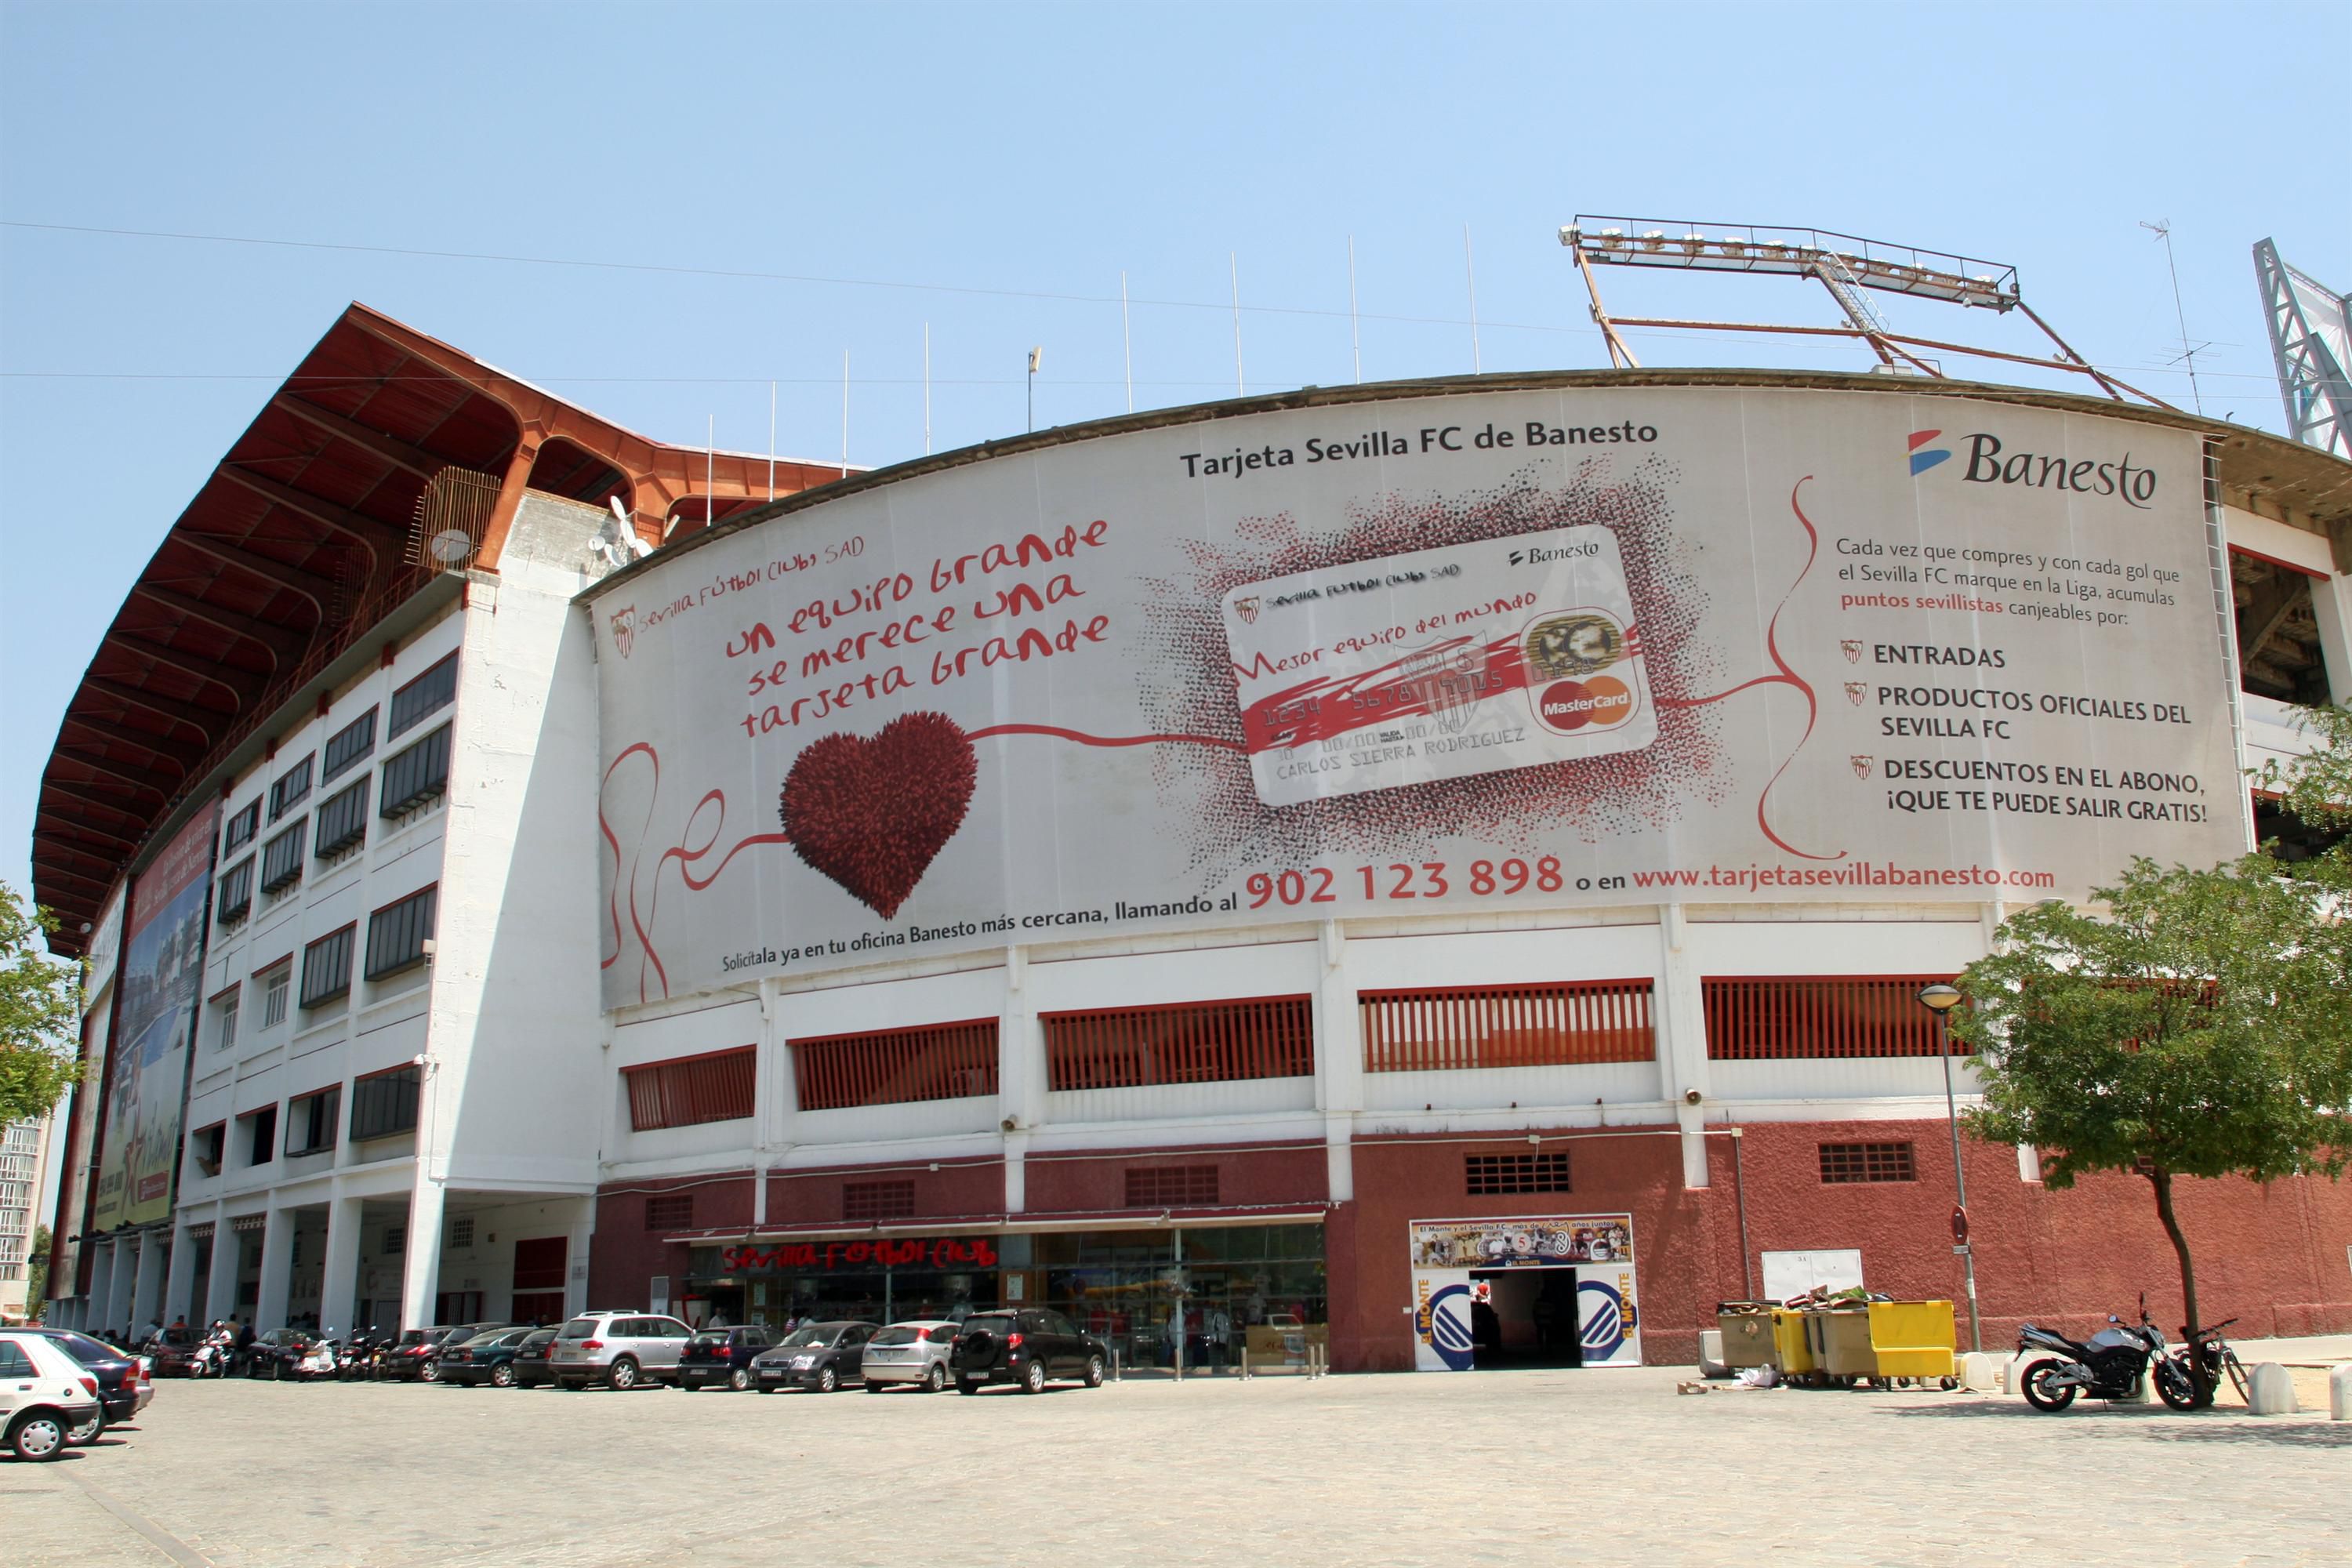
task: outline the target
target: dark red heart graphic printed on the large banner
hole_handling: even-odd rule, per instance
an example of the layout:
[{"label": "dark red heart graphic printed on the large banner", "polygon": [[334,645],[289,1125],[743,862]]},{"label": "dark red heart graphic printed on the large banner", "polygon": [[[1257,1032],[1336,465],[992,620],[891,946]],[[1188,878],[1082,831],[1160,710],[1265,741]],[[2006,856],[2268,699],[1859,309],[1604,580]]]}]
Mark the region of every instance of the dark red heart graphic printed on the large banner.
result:
[{"label": "dark red heart graphic printed on the large banner", "polygon": [[882,919],[964,825],[981,764],[943,712],[908,712],[873,741],[833,733],[783,778],[793,853]]}]

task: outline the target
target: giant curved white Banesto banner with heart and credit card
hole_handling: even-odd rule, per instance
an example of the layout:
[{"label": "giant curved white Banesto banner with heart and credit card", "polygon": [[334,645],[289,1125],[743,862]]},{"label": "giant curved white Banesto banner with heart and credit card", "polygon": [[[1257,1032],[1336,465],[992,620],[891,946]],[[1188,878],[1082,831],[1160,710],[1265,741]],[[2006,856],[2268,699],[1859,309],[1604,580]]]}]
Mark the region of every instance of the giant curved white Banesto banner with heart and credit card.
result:
[{"label": "giant curved white Banesto banner with heart and credit card", "polygon": [[2194,435],[1496,390],[1070,440],[590,592],[614,1004],[1155,929],[2082,898],[2244,846]]}]

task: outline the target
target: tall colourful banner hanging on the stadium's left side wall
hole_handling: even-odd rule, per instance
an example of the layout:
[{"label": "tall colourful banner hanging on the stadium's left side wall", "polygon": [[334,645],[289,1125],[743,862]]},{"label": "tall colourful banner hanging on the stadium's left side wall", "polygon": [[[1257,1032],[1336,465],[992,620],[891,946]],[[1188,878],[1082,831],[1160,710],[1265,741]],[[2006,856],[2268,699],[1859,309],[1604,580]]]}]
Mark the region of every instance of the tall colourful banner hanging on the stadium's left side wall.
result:
[{"label": "tall colourful banner hanging on the stadium's left side wall", "polygon": [[106,1145],[94,1229],[151,1225],[172,1213],[188,1041],[205,980],[205,903],[212,889],[207,806],[132,882],[129,938],[115,985],[106,1060]]}]

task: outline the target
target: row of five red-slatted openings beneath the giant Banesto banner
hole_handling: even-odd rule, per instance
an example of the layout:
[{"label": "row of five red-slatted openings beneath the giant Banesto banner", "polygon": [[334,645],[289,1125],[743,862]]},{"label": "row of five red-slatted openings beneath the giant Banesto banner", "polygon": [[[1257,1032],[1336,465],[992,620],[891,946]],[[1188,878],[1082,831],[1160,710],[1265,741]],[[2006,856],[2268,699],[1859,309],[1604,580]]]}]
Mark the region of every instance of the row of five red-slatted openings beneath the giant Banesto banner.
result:
[{"label": "row of five red-slatted openings beneath the giant Banesto banner", "polygon": [[[1962,1051],[1919,1006],[1947,976],[1773,976],[1703,980],[1708,1056],[1804,1060]],[[1651,980],[1362,992],[1364,1072],[1465,1072],[1649,1063]],[[1056,1091],[1310,1077],[1305,997],[1044,1013]],[[748,1048],[630,1067],[637,1131],[753,1114]],[[997,1093],[993,1018],[793,1041],[800,1110],[910,1105]]]}]

